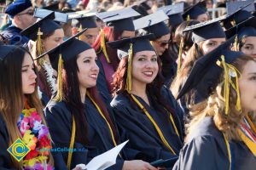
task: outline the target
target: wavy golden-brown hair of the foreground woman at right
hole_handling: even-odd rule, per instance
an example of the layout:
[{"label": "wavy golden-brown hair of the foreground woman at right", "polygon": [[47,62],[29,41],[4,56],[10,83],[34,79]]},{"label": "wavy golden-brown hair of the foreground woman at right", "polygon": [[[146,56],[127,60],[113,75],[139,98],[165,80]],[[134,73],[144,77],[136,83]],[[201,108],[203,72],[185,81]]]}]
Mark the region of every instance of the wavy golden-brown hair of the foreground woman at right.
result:
[{"label": "wavy golden-brown hair of the foreground woman at right", "polygon": [[[237,58],[231,65],[234,65],[236,69],[240,72],[243,71],[244,65],[248,61],[254,61],[252,57],[247,55],[241,55]],[[235,81],[235,80],[233,80]],[[219,131],[223,132],[229,140],[233,139],[236,141],[241,141],[238,133],[236,132],[236,127],[241,122],[244,112],[236,110],[236,91],[230,88],[230,111],[225,114],[225,102],[224,102],[224,73],[220,76],[218,80],[218,85],[213,91],[212,95],[202,101],[197,105],[193,105],[190,110],[191,121],[189,122],[187,128],[186,140],[190,133],[195,132],[196,125],[201,122],[201,120],[206,116],[212,116],[213,121]],[[255,123],[256,116],[250,115]]]}]

